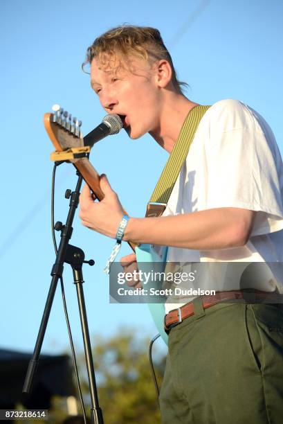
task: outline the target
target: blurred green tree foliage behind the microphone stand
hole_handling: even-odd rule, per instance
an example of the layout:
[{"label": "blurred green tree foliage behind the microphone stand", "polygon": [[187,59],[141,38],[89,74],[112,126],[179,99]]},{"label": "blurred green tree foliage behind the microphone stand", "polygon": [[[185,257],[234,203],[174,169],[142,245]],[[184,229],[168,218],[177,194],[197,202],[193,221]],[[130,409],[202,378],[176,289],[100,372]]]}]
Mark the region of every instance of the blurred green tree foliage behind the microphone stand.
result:
[{"label": "blurred green tree foliage behind the microphone stand", "polygon": [[[110,339],[94,337],[93,361],[104,423],[160,423],[156,391],[149,368],[149,342],[148,338],[138,339],[133,330],[121,330]],[[165,357],[160,353],[157,356],[158,360],[155,353],[154,370],[158,387],[161,387]],[[81,378],[81,382],[84,394],[89,393],[88,380]]]}]

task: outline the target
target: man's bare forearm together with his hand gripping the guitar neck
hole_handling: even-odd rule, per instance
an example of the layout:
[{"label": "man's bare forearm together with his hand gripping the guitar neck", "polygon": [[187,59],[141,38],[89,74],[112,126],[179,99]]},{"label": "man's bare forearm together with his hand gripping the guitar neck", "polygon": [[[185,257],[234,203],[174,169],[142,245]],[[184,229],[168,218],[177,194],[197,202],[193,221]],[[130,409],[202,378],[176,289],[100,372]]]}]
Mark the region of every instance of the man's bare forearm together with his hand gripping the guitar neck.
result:
[{"label": "man's bare forearm together with his hand gripping the guitar neck", "polygon": [[[115,238],[124,212],[106,176],[100,178],[100,187],[105,197],[93,202],[89,187],[84,186],[80,218],[84,226]],[[255,212],[248,209],[218,208],[158,218],[130,218],[123,240],[196,250],[227,249],[246,244],[254,217]]]}]

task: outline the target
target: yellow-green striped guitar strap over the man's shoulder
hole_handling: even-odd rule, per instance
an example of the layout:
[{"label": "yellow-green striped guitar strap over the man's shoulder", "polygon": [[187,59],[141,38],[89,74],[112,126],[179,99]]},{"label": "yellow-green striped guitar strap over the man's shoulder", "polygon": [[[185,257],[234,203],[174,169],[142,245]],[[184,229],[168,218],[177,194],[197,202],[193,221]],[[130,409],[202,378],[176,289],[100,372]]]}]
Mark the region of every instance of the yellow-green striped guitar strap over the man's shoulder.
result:
[{"label": "yellow-green striped guitar strap over the man's shoulder", "polygon": [[201,121],[201,118],[209,108],[210,106],[197,105],[188,113],[170,157],[167,159],[162,174],[154,188],[152,197],[150,197],[149,203],[157,202],[167,204],[176,179],[180,173],[181,166],[188,156],[194,134],[199,126],[199,121]]}]

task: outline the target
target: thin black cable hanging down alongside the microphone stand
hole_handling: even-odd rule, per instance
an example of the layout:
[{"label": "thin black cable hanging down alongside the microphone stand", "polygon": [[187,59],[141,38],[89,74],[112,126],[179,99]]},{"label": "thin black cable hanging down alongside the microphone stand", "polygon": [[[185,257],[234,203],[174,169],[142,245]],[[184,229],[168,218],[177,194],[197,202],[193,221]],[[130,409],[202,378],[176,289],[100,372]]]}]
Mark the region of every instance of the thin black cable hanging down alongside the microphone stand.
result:
[{"label": "thin black cable hanging down alongside the microphone stand", "polygon": [[[55,237],[55,229],[54,229],[54,192],[55,192],[55,174],[56,174],[57,166],[58,166],[58,164],[55,163],[54,167],[53,167],[52,188],[51,188],[51,229],[52,229],[52,238],[53,238],[55,254],[57,254],[57,251],[58,251],[57,243],[56,243],[56,237]],[[66,305],[66,297],[65,297],[63,277],[60,277],[60,283],[61,283],[64,313],[65,313],[66,324],[67,324],[67,328],[68,328],[69,340],[70,340],[70,345],[71,345],[73,366],[74,366],[74,369],[75,369],[75,380],[77,382],[77,390],[79,392],[80,405],[82,407],[82,415],[84,416],[84,424],[86,424],[86,411],[85,411],[85,408],[84,408],[84,400],[82,398],[82,389],[80,387],[80,378],[79,378],[79,374],[77,372],[77,360],[76,360],[76,357],[75,357],[75,348],[74,348],[74,345],[73,345],[73,337],[72,337],[72,333],[71,333],[71,326],[70,326],[69,315],[68,315],[68,310],[67,310],[67,305]]]}]

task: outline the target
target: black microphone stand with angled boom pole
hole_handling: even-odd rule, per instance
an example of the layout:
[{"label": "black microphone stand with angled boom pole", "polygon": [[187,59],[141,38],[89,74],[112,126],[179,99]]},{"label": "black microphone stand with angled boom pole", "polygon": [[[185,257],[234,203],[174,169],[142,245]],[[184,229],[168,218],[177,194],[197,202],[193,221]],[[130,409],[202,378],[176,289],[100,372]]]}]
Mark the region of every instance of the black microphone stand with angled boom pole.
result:
[{"label": "black microphone stand with angled boom pole", "polygon": [[[57,164],[60,163],[62,162],[57,162]],[[91,394],[91,423],[103,424],[102,409],[100,409],[98,403],[98,391],[95,382],[93,357],[91,353],[91,342],[89,338],[89,327],[86,317],[86,306],[84,303],[84,291],[82,288],[82,283],[84,283],[84,279],[82,276],[82,263],[89,263],[89,265],[93,265],[94,262],[93,260],[85,261],[84,251],[82,251],[82,249],[78,247],[69,245],[69,240],[73,233],[73,218],[75,216],[75,209],[77,209],[77,205],[79,203],[80,188],[82,186],[82,176],[78,172],[77,176],[78,179],[75,191],[70,193],[70,191],[67,190],[65,195],[66,198],[71,197],[69,204],[69,213],[66,218],[66,224],[63,225],[62,222],[57,222],[55,224],[55,229],[57,229],[57,231],[61,231],[61,240],[57,251],[56,260],[51,271],[51,286],[49,288],[48,297],[42,316],[42,322],[40,324],[39,333],[37,335],[33,358],[28,364],[28,371],[26,373],[23,392],[29,394],[32,389],[33,379],[35,377],[37,365],[39,362],[39,355],[42,348],[42,342],[44,340],[46,326],[48,323],[48,318],[51,312],[52,303],[57,288],[57,282],[59,279],[62,279],[64,262],[69,263],[73,269],[73,279],[77,290],[77,301],[80,310],[80,321],[82,325],[82,336],[84,340],[84,354],[86,357],[86,369],[89,377],[89,389]]]}]

